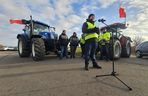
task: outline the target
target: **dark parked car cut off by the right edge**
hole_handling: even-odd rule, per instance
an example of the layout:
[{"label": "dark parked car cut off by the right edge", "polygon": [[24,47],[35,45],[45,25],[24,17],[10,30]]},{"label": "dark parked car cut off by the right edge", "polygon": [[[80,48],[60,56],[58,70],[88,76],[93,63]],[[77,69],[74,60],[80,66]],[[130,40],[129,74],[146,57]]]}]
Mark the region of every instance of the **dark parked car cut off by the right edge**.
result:
[{"label": "dark parked car cut off by the right edge", "polygon": [[148,56],[148,41],[139,44],[136,47],[136,57],[142,58],[143,56]]}]

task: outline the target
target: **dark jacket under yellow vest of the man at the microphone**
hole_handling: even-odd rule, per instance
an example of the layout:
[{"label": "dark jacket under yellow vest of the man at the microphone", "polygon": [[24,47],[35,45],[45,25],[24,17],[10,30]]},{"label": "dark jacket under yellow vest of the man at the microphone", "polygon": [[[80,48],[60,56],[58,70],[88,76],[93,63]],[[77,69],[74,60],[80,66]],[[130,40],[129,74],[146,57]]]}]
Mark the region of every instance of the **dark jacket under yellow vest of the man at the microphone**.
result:
[{"label": "dark jacket under yellow vest of the man at the microphone", "polygon": [[[90,20],[86,20],[86,22],[90,22],[92,24],[94,24],[95,22],[94,21],[90,21]],[[98,33],[99,34],[99,28],[95,27],[93,29],[87,29],[88,28],[88,25],[87,23],[84,22],[83,26],[82,26],[82,32],[83,33]]]}]

